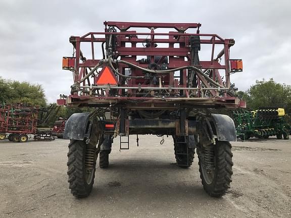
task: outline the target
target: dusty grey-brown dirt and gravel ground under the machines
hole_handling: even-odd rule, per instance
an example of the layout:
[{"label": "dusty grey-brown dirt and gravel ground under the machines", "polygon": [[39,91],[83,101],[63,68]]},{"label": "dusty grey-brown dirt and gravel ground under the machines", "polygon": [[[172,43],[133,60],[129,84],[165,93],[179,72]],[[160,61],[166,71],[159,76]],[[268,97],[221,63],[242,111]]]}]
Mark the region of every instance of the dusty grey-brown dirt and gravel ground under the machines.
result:
[{"label": "dusty grey-brown dirt and gravel ground under the machines", "polygon": [[0,141],[0,217],[291,217],[291,140],[233,142],[233,182],[222,198],[203,190],[198,158],[174,165],[172,138],[134,136],[113,144],[109,169],[96,169],[91,195],[67,183],[68,140]]}]

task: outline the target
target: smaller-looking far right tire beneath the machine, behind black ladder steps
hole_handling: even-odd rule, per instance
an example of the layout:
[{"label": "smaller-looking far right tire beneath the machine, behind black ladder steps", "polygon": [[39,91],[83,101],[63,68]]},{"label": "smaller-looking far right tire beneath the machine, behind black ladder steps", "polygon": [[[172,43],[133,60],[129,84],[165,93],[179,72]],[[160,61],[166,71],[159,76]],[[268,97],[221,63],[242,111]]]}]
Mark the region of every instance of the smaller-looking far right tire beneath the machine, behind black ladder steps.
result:
[{"label": "smaller-looking far right tire beneath the machine, behind black ladder steps", "polygon": [[[186,169],[191,167],[194,154],[195,154],[195,148],[189,148],[188,144],[185,144],[185,147],[177,147],[177,141],[183,142],[185,137],[178,137],[174,138],[174,151],[175,151],[175,158],[176,158],[176,164],[178,167]],[[186,150],[188,149],[188,151]],[[188,153],[188,155],[185,154],[179,154],[179,153]]]}]

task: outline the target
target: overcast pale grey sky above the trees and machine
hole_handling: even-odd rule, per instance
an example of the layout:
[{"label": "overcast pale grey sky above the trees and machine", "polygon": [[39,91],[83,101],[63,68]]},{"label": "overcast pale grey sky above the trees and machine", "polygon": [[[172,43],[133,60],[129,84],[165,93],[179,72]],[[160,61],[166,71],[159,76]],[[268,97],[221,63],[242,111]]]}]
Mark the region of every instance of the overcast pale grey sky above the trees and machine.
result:
[{"label": "overcast pale grey sky above the trees and machine", "polygon": [[0,77],[41,84],[49,102],[69,94],[71,35],[103,31],[103,22],[202,23],[201,33],[234,38],[231,58],[244,72],[231,82],[246,90],[256,80],[274,78],[291,85],[291,1],[0,1]]}]

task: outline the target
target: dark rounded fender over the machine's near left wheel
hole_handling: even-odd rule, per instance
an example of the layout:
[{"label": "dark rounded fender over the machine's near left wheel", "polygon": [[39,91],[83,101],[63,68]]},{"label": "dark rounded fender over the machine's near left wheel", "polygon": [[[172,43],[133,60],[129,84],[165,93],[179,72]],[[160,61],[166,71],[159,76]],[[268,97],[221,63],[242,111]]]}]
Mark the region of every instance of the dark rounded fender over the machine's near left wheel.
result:
[{"label": "dark rounded fender over the machine's near left wheel", "polygon": [[90,113],[73,114],[65,125],[63,138],[75,140],[88,138],[90,133],[89,115]]}]

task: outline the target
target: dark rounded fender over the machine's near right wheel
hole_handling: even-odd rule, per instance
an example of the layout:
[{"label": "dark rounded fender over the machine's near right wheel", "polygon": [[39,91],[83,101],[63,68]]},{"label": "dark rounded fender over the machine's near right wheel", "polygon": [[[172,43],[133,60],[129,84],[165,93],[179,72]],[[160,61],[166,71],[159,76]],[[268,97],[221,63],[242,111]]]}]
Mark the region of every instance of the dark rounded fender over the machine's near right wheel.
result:
[{"label": "dark rounded fender over the machine's near right wheel", "polygon": [[218,141],[236,141],[236,131],[233,120],[227,115],[211,114],[215,123]]}]

